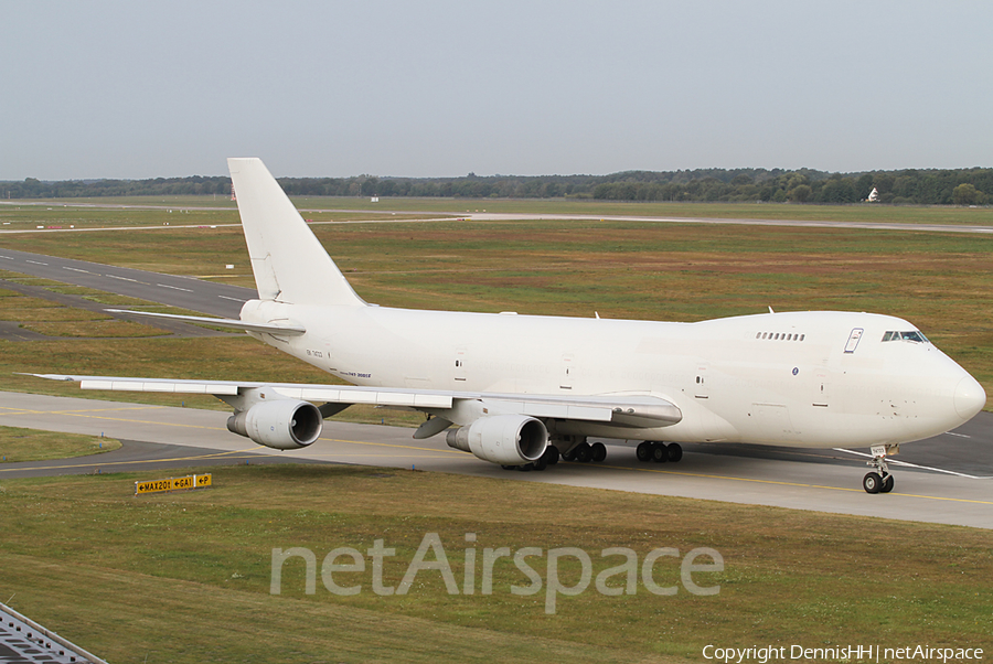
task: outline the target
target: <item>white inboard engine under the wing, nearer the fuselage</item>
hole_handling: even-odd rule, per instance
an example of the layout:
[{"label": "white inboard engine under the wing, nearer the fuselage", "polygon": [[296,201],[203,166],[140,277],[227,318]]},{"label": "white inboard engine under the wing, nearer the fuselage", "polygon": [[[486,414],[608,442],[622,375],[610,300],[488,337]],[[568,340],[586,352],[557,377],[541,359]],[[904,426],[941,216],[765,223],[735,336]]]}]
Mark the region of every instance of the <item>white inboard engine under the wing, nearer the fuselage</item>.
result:
[{"label": "white inboard engine under the wing, nearer the fuselage", "polygon": [[448,432],[448,447],[472,452],[483,461],[521,465],[536,461],[548,447],[548,430],[526,415],[481,417]]}]

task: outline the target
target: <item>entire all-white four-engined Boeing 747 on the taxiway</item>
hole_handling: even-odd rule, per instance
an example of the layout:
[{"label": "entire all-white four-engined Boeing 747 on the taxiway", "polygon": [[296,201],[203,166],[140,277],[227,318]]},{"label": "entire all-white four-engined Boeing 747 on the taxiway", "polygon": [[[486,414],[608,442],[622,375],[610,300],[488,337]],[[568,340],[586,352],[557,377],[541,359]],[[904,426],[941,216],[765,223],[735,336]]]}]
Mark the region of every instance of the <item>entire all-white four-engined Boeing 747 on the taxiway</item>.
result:
[{"label": "entire all-white four-engined Boeing 747 on the taxiway", "polygon": [[868,493],[893,490],[886,457],[900,443],[953,429],[986,401],[890,315],[770,310],[668,323],[369,304],[260,160],[228,167],[258,299],[239,320],[169,318],[245,330],[353,385],[44,377],[213,394],[234,408],[228,429],[284,450],[312,443],[323,418],[352,404],[424,413],[414,438],[447,430],[449,446],[508,468],[544,470],[559,454],[602,461],[606,447],[589,437],[643,441],[638,458],[658,462],[679,461],[681,442],[869,447]]}]

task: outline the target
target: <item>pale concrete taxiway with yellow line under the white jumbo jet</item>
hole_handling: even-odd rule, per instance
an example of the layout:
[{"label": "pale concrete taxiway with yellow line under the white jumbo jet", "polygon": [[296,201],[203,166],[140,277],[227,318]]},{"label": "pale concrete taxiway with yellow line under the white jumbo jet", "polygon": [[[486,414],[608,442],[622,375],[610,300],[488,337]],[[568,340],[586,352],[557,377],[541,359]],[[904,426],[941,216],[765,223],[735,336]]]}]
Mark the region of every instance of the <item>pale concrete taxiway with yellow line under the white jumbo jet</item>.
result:
[{"label": "pale concrete taxiway with yellow line under the white jumbo jet", "polygon": [[[993,415],[981,414],[976,428],[989,431]],[[976,419],[980,419],[976,418]],[[114,452],[64,462],[25,462],[0,465],[0,482],[14,476],[94,473],[156,468],[190,467],[205,462],[244,463],[247,459],[354,463],[410,468],[527,482],[551,482],[590,489],[631,491],[793,510],[811,510],[978,528],[993,528],[993,480],[931,470],[894,468],[893,493],[868,495],[861,486],[865,467],[844,453],[796,450],[776,456],[746,457],[735,449],[717,450],[686,446],[683,460],[673,464],[642,464],[633,446],[608,442],[605,463],[562,462],[544,472],[504,471],[466,452],[452,450],[442,436],[414,440],[413,430],[354,425],[329,420],[312,446],[280,452],[255,446],[227,431],[227,414],[192,408],[168,408],[99,401],[82,398],[0,393],[0,425],[52,431],[104,433],[111,438],[173,446],[168,454],[120,459]],[[968,433],[960,433],[967,436]],[[946,435],[949,436],[949,435]],[[911,450],[941,447],[943,437],[905,446]],[[954,437],[952,437],[954,438]],[[991,446],[970,440],[976,459],[993,467]],[[125,449],[125,448],[122,448]],[[758,451],[760,452],[760,450]],[[168,461],[169,454],[174,454]],[[782,454],[793,454],[783,458]],[[163,461],[167,460],[167,461]],[[973,467],[972,470],[982,470]],[[993,472],[989,472],[993,475]],[[444,478],[438,479],[444,481]],[[596,508],[590,505],[589,508]]]}]

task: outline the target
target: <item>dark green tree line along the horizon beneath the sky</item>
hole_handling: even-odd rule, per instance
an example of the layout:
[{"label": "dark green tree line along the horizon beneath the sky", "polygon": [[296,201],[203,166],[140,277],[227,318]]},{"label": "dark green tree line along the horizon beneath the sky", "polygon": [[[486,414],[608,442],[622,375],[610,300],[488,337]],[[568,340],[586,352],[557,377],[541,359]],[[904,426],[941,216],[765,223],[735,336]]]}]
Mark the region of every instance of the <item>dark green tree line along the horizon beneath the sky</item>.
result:
[{"label": "dark green tree line along the horizon beneath the sky", "polygon": [[[291,196],[445,196],[595,199],[607,201],[857,203],[875,189],[880,203],[984,205],[993,203],[993,169],[829,173],[811,169],[696,169],[626,171],[610,175],[488,175],[461,178],[280,178]],[[231,194],[225,176],[151,180],[28,178],[0,183],[11,199]]]}]

